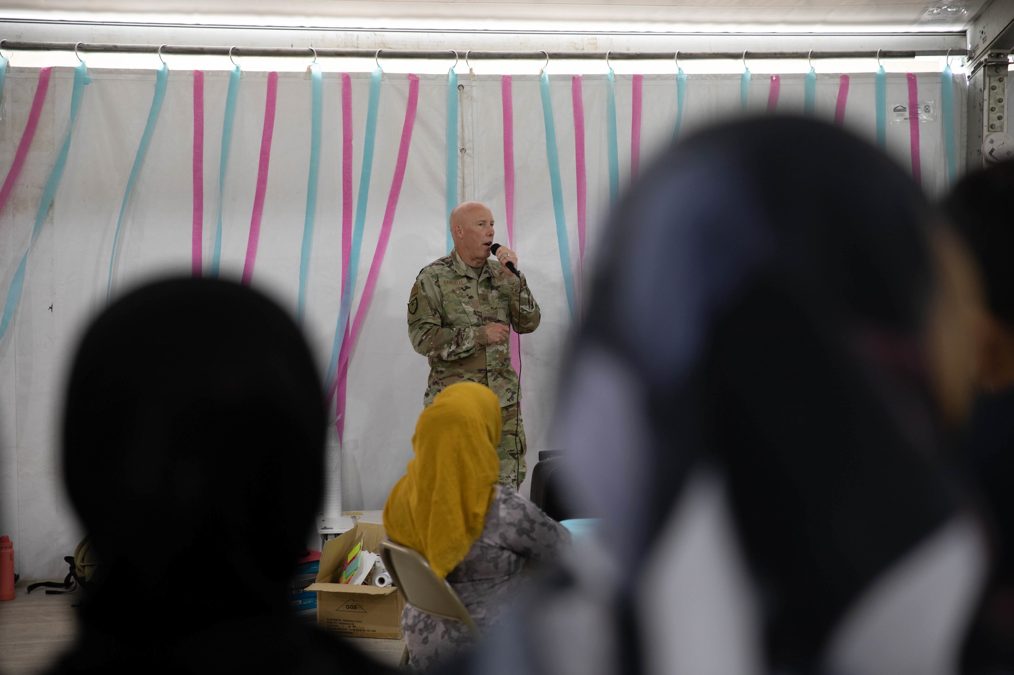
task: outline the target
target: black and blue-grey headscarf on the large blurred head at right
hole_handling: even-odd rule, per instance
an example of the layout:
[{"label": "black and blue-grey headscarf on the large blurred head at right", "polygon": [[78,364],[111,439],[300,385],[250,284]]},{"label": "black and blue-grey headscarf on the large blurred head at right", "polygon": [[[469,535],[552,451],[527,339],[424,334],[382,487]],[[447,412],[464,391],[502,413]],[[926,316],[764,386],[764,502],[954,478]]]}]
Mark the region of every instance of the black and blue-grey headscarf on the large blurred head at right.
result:
[{"label": "black and blue-grey headscarf on the large blurred head at right", "polygon": [[563,387],[576,495],[643,559],[689,472],[718,467],[775,670],[812,668],[954,513],[922,349],[931,220],[872,147],[768,118],[677,145],[600,247]]}]

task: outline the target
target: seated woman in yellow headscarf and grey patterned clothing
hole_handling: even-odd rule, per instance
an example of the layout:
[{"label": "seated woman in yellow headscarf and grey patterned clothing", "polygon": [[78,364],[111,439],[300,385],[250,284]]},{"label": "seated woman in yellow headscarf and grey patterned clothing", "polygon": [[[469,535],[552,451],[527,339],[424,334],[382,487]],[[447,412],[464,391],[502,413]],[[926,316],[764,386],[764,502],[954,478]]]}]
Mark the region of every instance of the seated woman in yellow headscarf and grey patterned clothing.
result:
[{"label": "seated woman in yellow headscarf and grey patterned clothing", "polygon": [[[387,536],[446,578],[484,634],[528,579],[525,564],[551,560],[570,542],[562,525],[497,484],[500,430],[500,402],[489,387],[461,382],[441,391],[419,416],[416,456],[383,511]],[[402,628],[417,670],[472,644],[463,623],[411,604]]]}]

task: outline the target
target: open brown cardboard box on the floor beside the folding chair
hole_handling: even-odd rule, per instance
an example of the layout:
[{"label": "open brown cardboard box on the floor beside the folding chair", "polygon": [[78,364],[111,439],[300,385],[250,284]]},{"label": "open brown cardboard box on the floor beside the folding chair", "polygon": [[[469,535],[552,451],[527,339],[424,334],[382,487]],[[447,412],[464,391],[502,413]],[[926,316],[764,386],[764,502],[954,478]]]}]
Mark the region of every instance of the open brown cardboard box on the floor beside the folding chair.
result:
[{"label": "open brown cardboard box on the floor beside the folding chair", "polygon": [[357,523],[324,544],[316,583],[306,589],[317,592],[317,626],[346,638],[400,639],[405,598],[396,588],[336,583],[360,537],[366,550],[378,553],[387,534],[383,525]]}]

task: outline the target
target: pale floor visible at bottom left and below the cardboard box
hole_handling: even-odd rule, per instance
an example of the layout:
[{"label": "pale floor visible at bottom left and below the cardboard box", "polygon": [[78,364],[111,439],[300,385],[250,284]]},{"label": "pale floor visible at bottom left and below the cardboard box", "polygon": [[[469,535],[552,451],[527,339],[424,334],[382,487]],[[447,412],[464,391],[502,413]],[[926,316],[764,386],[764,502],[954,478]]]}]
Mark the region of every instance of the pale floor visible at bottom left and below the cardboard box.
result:
[{"label": "pale floor visible at bottom left and below the cardboard box", "polygon": [[[0,655],[4,675],[43,672],[66,650],[77,633],[74,608],[79,593],[46,595],[37,589],[29,595],[30,581],[19,581],[13,600],[0,602]],[[396,666],[402,657],[401,640],[352,638],[349,642],[381,663]]]}]

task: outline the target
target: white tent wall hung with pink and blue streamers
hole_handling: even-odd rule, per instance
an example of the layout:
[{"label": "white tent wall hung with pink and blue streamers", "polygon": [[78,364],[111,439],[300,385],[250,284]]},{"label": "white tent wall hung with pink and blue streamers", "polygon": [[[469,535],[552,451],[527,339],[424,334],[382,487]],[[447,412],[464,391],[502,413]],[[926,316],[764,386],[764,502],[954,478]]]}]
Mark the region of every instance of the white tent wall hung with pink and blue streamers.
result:
[{"label": "white tent wall hung with pink and blue streamers", "polygon": [[[26,578],[62,574],[62,556],[81,532],[64,495],[59,468],[62,391],[86,322],[105,305],[117,217],[154,91],[152,71],[94,70],[85,87],[66,171],[54,207],[33,244],[18,312],[0,342],[0,531],[12,535],[16,566]],[[39,71],[11,69],[3,93],[0,171],[6,173],[27,119]],[[244,73],[223,185],[222,276],[238,279],[250,224],[267,91],[266,73]],[[755,76],[748,111],[767,106],[770,78]],[[204,268],[209,269],[218,210],[218,167],[228,75],[205,79]],[[460,195],[491,206],[497,239],[506,243],[501,78],[460,77]],[[957,80],[955,80],[957,82]],[[53,71],[43,117],[24,170],[0,213],[0,293],[5,293],[30,236],[42,189],[66,125],[71,72]],[[571,260],[578,265],[574,115],[571,76],[551,77],[564,211]],[[411,438],[422,409],[426,360],[408,341],[406,302],[418,271],[445,250],[446,78],[423,76],[404,186],[372,306],[348,376],[343,493],[346,509],[382,508],[412,456]],[[839,77],[817,80],[817,117],[834,117]],[[936,197],[946,184],[940,77],[919,75],[920,100],[937,101],[936,120],[920,126],[923,184]],[[362,162],[367,74],[352,75],[353,194]],[[609,210],[604,76],[582,80],[588,184],[588,248]],[[631,76],[617,77],[619,154],[623,184],[630,180]],[[538,330],[522,338],[522,404],[531,466],[551,449],[558,364],[573,325],[564,290],[550,189],[538,80],[513,78],[514,243],[542,309]],[[404,74],[387,73],[381,88],[375,159],[366,213],[357,299],[362,292],[387,205],[408,102]],[[802,110],[803,76],[782,77],[780,113]],[[955,123],[964,138],[965,89],[955,86]],[[888,75],[887,102],[908,101],[903,75]],[[193,75],[171,71],[151,147],[124,215],[113,296],[153,275],[189,275],[192,228]],[[676,114],[672,76],[645,76],[641,170],[671,139]],[[691,76],[682,135],[741,116],[739,76]],[[872,140],[874,76],[851,78],[845,124]],[[264,220],[252,285],[295,313],[306,206],[310,142],[310,82],[280,73],[278,107]],[[910,166],[908,124],[888,124],[888,152]],[[961,145],[958,158],[964,157]],[[342,118],[337,73],[323,77],[323,124],[316,227],[304,329],[323,373],[331,358],[342,285]],[[574,270],[576,289],[580,275]],[[51,309],[52,306],[52,309]],[[194,335],[196,341],[214,335]],[[152,356],[157,359],[157,355]],[[284,448],[280,449],[284,452]],[[525,490],[525,489],[523,489]],[[158,536],[158,524],[152,525]]]}]

